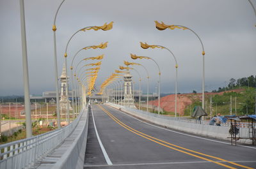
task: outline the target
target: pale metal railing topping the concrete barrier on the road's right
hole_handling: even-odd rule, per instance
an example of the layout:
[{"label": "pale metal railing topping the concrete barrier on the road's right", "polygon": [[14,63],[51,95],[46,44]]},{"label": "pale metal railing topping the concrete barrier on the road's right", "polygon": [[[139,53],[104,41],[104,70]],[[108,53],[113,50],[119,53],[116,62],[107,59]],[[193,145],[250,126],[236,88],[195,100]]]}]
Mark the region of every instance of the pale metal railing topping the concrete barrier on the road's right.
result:
[{"label": "pale metal railing topping the concrete barrier on the road's right", "polygon": [[[150,112],[145,112],[143,110],[138,110],[136,108],[120,106],[120,105],[116,105],[116,104],[113,104],[113,103],[108,103],[108,104],[113,105],[115,107],[120,107],[124,110],[138,112],[140,114],[147,114],[147,115],[150,115],[150,116],[159,117],[161,119],[170,119],[170,120],[173,120],[173,121],[181,121],[181,122],[192,122],[192,123],[197,123],[197,124],[209,124],[209,121],[205,121],[205,120],[199,121],[198,119],[188,119],[188,118],[185,118],[185,117],[169,117],[169,116],[165,116],[165,115],[158,115],[158,114],[153,114],[153,113],[150,113]],[[221,126],[229,127],[230,122],[221,123]],[[248,123],[240,122],[240,128],[248,128]]]}]

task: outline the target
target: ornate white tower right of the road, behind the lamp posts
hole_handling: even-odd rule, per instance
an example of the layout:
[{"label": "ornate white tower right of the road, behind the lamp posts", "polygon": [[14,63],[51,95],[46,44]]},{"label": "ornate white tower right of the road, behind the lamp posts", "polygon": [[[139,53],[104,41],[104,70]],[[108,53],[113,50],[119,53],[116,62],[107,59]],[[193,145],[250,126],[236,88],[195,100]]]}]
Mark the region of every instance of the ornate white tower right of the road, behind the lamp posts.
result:
[{"label": "ornate white tower right of the road, behind the lamp posts", "polygon": [[128,72],[123,76],[124,78],[124,100],[122,105],[126,107],[135,107],[132,96],[132,75]]}]

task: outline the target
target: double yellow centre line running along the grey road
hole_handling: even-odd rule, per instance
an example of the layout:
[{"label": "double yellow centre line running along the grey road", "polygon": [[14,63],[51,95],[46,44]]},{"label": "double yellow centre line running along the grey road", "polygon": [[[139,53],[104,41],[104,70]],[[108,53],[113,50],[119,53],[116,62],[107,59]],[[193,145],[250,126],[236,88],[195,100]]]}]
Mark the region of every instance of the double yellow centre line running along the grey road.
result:
[{"label": "double yellow centre line running along the grey road", "polygon": [[[99,105],[98,105],[98,106],[99,106]],[[180,146],[174,145],[174,144],[172,144],[172,143],[164,142],[163,140],[154,138],[153,136],[146,135],[145,133],[141,133],[140,131],[137,131],[136,129],[133,129],[133,128],[131,128],[130,126],[127,126],[126,124],[124,124],[122,121],[120,121],[120,120],[117,119],[114,115],[112,115],[110,112],[108,112],[108,110],[106,110],[105,108],[103,108],[103,107],[101,107],[101,106],[99,106],[99,107],[100,107],[104,112],[106,112],[106,114],[108,114],[109,117],[111,117],[111,119],[113,119],[116,123],[120,124],[120,126],[124,127],[125,129],[131,131],[132,133],[134,133],[134,134],[136,134],[136,135],[139,135],[139,136],[141,136],[141,137],[143,137],[143,138],[146,138],[147,140],[150,140],[150,141],[152,141],[152,142],[156,142],[156,143],[158,143],[158,144],[160,144],[160,145],[163,145],[164,147],[168,147],[168,148],[173,149],[173,150],[175,150],[175,151],[183,152],[183,153],[188,154],[188,155],[190,155],[190,156],[194,156],[194,157],[196,157],[196,158],[204,159],[204,160],[206,160],[206,161],[211,161],[212,163],[216,163],[216,164],[218,164],[218,165],[225,166],[225,167],[227,167],[227,168],[234,168],[234,167],[232,167],[232,166],[227,166],[227,165],[223,165],[223,164],[221,164],[221,163],[218,163],[218,162],[216,162],[216,161],[212,161],[211,159],[207,159],[207,158],[204,158],[204,157],[202,157],[202,156],[207,156],[207,157],[209,157],[209,158],[219,159],[219,160],[221,160],[221,161],[226,161],[227,163],[230,163],[230,164],[232,164],[232,165],[236,165],[236,166],[241,166],[241,167],[243,167],[243,168],[252,169],[251,167],[248,167],[248,166],[239,165],[239,164],[237,164],[237,163],[233,163],[233,162],[227,161],[227,160],[225,160],[225,159],[217,158],[217,157],[215,157],[215,156],[210,156],[210,155],[207,155],[207,154],[204,154],[204,153],[201,153],[201,152],[192,151],[192,150],[190,150],[190,149],[186,149],[186,148],[184,148],[184,147],[180,147]],[[153,140],[153,139],[155,139],[155,140]],[[157,140],[157,141],[156,141],[156,140]],[[159,142],[158,142],[158,141],[159,141]],[[166,145],[166,144],[164,144],[164,143],[166,143],[166,144],[168,144],[168,145]],[[171,147],[170,145],[172,145],[173,147]],[[177,148],[179,148],[179,149],[174,148],[174,147],[177,147]],[[190,152],[193,152],[193,153],[196,153],[196,154],[200,154],[200,155],[202,155],[202,156],[198,156],[198,155],[195,155],[195,154],[191,154],[190,152],[182,151],[182,150],[180,150],[180,149],[183,149],[183,150],[186,150],[186,151],[190,151]]]}]

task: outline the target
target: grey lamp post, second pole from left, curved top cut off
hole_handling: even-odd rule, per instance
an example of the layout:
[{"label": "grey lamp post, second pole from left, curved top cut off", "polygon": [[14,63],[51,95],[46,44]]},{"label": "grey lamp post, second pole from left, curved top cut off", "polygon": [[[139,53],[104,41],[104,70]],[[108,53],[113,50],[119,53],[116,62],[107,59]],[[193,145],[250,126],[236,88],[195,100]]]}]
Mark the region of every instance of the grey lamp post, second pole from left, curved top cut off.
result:
[{"label": "grey lamp post, second pole from left, curved top cut off", "polygon": [[55,70],[55,87],[56,87],[56,112],[57,112],[57,126],[61,128],[60,125],[60,96],[59,96],[59,82],[58,82],[58,64],[57,64],[57,49],[56,49],[56,17],[58,15],[58,11],[60,10],[61,5],[64,3],[63,0],[58,7],[58,10],[55,13],[52,31],[53,31],[53,47],[54,47],[54,70]]}]

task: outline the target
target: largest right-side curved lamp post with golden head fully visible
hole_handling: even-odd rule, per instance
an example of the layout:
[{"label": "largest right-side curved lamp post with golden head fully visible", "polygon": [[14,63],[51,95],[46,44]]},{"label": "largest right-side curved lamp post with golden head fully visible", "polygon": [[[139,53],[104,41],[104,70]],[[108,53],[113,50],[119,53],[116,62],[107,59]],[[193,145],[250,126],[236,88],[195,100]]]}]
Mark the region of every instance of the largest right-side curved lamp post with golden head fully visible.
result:
[{"label": "largest right-side curved lamp post with golden head fully visible", "polygon": [[200,39],[200,37],[198,36],[198,34],[195,33],[195,31],[193,31],[192,29],[190,29],[189,27],[186,27],[186,26],[179,26],[179,25],[171,25],[171,26],[168,26],[166,24],[164,24],[163,22],[161,22],[161,24],[157,21],[155,21],[156,23],[156,28],[159,30],[159,31],[163,31],[164,29],[183,29],[183,30],[186,30],[188,29],[189,31],[191,31],[192,33],[194,33],[196,35],[196,37],[198,38],[198,40],[200,41],[201,45],[202,45],[202,56],[203,56],[203,80],[202,80],[202,108],[204,109],[204,88],[205,88],[205,83],[204,83],[204,55],[205,55],[205,51],[204,51],[204,44],[202,42],[202,40]]}]

